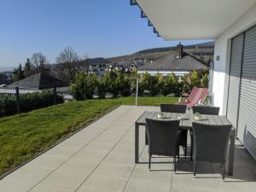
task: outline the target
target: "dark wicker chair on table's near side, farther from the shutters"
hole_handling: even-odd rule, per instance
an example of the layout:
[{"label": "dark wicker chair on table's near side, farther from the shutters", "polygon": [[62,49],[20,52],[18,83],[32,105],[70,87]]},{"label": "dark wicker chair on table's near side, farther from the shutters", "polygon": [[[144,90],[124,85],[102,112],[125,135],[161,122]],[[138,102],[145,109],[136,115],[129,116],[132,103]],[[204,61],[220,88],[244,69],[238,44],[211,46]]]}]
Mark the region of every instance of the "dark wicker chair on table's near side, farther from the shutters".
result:
[{"label": "dark wicker chair on table's near side, farther from the shutters", "polygon": [[177,137],[179,120],[146,119],[148,137],[148,169],[151,166],[153,154],[172,156],[174,158],[174,172],[176,172]]}]

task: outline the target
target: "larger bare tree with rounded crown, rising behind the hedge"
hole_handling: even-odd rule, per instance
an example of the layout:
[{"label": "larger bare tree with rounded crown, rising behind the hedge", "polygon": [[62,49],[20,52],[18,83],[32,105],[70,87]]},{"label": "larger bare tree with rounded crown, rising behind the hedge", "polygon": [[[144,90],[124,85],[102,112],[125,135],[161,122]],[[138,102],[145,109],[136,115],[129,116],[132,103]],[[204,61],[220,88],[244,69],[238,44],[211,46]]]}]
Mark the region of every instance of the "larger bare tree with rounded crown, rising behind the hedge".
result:
[{"label": "larger bare tree with rounded crown, rising behind the hedge", "polygon": [[58,55],[55,60],[56,63],[61,64],[63,72],[67,74],[68,81],[73,82],[77,63],[79,61],[78,53],[68,46],[61,51],[60,55]]}]

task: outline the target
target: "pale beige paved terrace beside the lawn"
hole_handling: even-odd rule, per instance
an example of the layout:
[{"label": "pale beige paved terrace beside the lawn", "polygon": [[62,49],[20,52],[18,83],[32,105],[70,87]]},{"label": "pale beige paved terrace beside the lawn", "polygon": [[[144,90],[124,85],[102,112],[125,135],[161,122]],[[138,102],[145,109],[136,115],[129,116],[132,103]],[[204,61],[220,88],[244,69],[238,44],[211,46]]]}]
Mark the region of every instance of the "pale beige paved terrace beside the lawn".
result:
[{"label": "pale beige paved terrace beside the lawn", "polygon": [[[222,180],[218,165],[200,163],[196,177],[189,158],[177,162],[154,158],[148,171],[148,148],[140,143],[140,161],[134,164],[134,122],[153,107],[121,106],[73,137],[51,148],[0,181],[2,192],[252,192],[256,190],[256,163],[236,144],[234,176]],[[140,132],[144,141],[144,129]]]}]

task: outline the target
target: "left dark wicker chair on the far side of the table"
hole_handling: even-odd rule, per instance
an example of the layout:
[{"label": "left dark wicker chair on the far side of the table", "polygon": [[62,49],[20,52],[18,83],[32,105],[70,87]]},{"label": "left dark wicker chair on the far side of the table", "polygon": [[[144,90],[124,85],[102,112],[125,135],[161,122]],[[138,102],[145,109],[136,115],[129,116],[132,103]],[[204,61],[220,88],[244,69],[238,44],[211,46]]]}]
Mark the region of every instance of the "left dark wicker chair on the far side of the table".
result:
[{"label": "left dark wicker chair on the far side of the table", "polygon": [[[160,110],[161,112],[169,112],[169,113],[186,113],[187,106],[185,105],[176,105],[176,104],[161,104]],[[178,144],[185,148],[184,154],[187,156],[187,143],[188,141],[188,131],[181,130],[180,136],[178,138]],[[179,154],[178,154],[179,158]]]}]

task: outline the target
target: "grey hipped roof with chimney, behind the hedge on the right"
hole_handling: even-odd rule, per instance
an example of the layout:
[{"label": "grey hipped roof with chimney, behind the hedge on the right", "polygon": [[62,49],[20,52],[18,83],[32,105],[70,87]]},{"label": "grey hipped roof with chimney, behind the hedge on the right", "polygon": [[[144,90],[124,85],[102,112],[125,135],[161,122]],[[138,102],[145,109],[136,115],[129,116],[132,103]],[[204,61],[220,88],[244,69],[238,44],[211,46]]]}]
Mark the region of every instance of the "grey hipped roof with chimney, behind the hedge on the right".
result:
[{"label": "grey hipped roof with chimney, behind the hedge on the right", "polygon": [[186,52],[183,52],[182,58],[177,58],[176,52],[173,52],[159,60],[146,62],[143,66],[138,67],[138,71],[193,71],[207,68],[206,63]]}]

